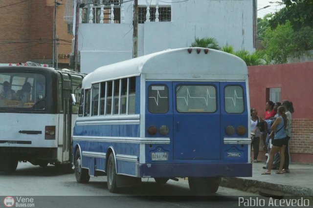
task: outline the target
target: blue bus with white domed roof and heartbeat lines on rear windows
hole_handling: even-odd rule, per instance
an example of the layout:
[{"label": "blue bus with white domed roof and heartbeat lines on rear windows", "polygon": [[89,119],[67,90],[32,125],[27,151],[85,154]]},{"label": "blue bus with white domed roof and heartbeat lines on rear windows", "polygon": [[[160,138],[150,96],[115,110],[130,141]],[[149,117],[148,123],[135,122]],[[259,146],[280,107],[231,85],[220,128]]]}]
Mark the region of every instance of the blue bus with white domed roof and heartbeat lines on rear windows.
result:
[{"label": "blue bus with white domed roof and heartbeat lines on rear windows", "polygon": [[252,175],[249,114],[246,63],[222,51],[165,50],[99,67],[82,83],[76,180],[107,175],[116,192],[141,178],[188,177],[191,190],[216,192],[221,177]]}]

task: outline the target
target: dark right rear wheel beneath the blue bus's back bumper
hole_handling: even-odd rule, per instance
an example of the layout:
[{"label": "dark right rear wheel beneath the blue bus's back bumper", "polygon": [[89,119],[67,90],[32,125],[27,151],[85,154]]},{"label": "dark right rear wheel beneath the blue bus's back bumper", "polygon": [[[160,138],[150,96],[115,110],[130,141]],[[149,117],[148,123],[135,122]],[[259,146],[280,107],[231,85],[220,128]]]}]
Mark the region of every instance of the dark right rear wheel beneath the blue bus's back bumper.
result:
[{"label": "dark right rear wheel beneath the blue bus's back bumper", "polygon": [[220,183],[221,177],[188,178],[189,188],[195,193],[215,193]]}]

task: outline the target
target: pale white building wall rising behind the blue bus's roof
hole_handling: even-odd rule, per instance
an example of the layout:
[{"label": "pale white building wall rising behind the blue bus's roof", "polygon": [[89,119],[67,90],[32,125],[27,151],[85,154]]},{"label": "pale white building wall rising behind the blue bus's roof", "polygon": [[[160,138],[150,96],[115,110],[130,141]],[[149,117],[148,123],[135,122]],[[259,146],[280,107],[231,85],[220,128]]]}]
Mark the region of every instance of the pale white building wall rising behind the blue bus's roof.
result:
[{"label": "pale white building wall rising behind the blue bus's roof", "polygon": [[[174,0],[176,1],[176,0]],[[145,5],[139,0],[139,6]],[[252,0],[188,0],[171,3],[171,22],[138,25],[138,56],[189,47],[195,38],[216,38],[220,46],[253,52]],[[133,57],[133,3],[124,3],[125,23],[79,24],[78,50],[81,71]],[[159,6],[164,3],[159,2]],[[152,4],[155,5],[155,0]]]}]

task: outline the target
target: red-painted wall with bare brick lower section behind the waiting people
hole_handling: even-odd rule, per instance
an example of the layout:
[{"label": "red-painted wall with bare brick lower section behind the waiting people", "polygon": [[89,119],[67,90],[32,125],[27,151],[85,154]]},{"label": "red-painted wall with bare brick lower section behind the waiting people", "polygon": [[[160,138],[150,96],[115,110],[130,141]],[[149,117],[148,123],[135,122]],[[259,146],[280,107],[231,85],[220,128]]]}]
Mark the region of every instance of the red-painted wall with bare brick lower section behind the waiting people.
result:
[{"label": "red-painted wall with bare brick lower section behind the waiting people", "polygon": [[313,62],[249,66],[248,72],[250,106],[261,118],[268,100],[292,102],[291,162],[313,164]]}]

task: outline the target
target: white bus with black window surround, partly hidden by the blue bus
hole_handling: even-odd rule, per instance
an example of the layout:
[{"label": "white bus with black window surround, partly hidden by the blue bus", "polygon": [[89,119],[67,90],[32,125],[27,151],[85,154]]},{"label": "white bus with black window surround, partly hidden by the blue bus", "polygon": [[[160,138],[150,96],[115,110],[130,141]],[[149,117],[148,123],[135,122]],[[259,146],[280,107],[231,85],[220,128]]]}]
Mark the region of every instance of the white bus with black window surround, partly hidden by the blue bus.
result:
[{"label": "white bus with black window surround, partly hidden by the blue bus", "polygon": [[0,171],[15,171],[19,161],[71,166],[78,111],[71,94],[79,99],[84,76],[40,66],[0,67]]}]

